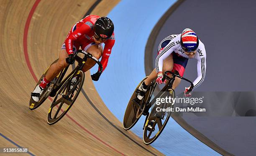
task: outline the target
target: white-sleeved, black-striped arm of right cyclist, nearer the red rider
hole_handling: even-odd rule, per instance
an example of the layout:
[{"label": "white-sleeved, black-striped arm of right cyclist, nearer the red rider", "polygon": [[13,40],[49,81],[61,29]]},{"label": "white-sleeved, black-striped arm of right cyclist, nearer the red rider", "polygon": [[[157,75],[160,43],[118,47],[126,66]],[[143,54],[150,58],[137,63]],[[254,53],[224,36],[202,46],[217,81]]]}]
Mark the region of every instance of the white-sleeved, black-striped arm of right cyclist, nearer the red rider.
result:
[{"label": "white-sleeved, black-striped arm of right cyclist, nearer the red rider", "polygon": [[163,72],[163,62],[175,50],[175,42],[171,41],[166,45],[156,57],[156,73]]}]

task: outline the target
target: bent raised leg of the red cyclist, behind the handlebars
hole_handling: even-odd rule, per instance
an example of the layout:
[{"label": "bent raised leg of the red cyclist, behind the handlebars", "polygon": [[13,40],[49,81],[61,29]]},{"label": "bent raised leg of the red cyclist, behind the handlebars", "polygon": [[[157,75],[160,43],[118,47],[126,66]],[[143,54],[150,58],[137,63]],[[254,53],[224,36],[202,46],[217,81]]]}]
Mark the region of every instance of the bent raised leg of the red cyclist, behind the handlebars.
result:
[{"label": "bent raised leg of the red cyclist, behind the handlebars", "polygon": [[[102,48],[102,45],[98,45],[98,44],[95,44],[95,43],[90,43],[89,45],[87,45],[84,48],[84,51],[89,52],[95,58],[100,59],[100,57],[102,55],[102,52],[103,52],[103,48]],[[96,62],[94,60],[87,59],[87,61],[85,62],[84,68],[83,68],[83,72],[87,72],[95,64],[96,64]]]}]

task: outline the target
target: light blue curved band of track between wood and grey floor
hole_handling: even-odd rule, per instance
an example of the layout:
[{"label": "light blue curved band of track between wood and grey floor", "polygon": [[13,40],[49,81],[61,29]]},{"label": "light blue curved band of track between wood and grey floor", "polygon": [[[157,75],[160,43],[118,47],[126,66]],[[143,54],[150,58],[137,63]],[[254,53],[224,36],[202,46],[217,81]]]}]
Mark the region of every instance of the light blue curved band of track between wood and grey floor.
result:
[{"label": "light blue curved band of track between wood and grey floor", "polygon": [[[108,15],[115,25],[115,45],[108,67],[94,82],[97,92],[110,111],[123,121],[127,103],[143,79],[144,51],[154,25],[176,0],[124,0]],[[167,36],[167,35],[166,35]],[[97,67],[92,69],[95,72]],[[142,138],[142,116],[131,130]],[[166,155],[219,155],[208,146],[190,135],[172,118],[159,138],[152,144]]]}]

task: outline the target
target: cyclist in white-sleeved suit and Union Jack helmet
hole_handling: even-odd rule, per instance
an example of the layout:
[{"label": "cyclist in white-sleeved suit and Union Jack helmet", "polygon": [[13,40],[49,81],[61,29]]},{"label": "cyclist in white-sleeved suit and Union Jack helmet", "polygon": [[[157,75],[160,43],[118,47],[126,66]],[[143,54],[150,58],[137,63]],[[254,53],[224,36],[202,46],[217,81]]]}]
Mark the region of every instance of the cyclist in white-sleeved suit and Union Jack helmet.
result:
[{"label": "cyclist in white-sleeved suit and Union Jack helmet", "polygon": [[[186,28],[182,34],[170,35],[161,41],[158,47],[158,56],[156,57],[156,68],[151,72],[146,80],[141,84],[137,93],[137,98],[141,100],[146,92],[148,84],[156,79],[158,84],[162,82],[163,72],[177,70],[180,76],[183,76],[188,59],[197,59],[197,78],[193,82],[194,88],[197,88],[205,79],[206,71],[206,52],[205,45],[198,39],[196,33]],[[176,77],[173,89],[175,89],[181,79]],[[189,97],[191,93],[186,94],[189,87],[185,88],[184,96]]]}]

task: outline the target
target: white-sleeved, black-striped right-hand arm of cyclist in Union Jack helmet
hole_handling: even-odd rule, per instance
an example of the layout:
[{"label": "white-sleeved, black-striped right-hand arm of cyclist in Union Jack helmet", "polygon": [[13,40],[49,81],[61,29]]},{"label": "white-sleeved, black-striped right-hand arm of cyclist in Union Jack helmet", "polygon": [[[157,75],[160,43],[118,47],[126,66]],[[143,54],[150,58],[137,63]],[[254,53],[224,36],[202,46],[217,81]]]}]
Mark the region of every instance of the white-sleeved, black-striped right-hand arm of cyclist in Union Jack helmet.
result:
[{"label": "white-sleeved, black-striped right-hand arm of cyclist in Union Jack helmet", "polygon": [[206,72],[206,54],[204,54],[202,57],[197,59],[197,78],[193,82],[194,88],[197,88],[202,84],[202,82],[205,79],[205,72]]}]

